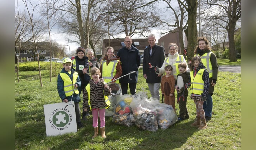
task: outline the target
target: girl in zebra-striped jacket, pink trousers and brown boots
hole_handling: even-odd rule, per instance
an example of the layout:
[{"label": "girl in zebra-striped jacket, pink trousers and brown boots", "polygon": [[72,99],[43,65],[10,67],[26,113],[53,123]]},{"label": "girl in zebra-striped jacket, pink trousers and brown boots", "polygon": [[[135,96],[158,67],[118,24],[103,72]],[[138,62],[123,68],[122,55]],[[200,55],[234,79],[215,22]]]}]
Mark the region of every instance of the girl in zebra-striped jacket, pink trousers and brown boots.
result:
[{"label": "girl in zebra-striped jacket, pink trousers and brown boots", "polygon": [[92,126],[94,127],[94,135],[92,138],[98,135],[98,113],[101,121],[101,137],[106,138],[105,112],[110,105],[107,96],[110,95],[111,89],[108,84],[104,84],[104,79],[100,78],[101,72],[97,67],[91,68],[90,76],[92,79],[89,80],[89,84],[87,84],[83,93],[83,109],[87,111],[87,109],[90,108],[92,111]]}]

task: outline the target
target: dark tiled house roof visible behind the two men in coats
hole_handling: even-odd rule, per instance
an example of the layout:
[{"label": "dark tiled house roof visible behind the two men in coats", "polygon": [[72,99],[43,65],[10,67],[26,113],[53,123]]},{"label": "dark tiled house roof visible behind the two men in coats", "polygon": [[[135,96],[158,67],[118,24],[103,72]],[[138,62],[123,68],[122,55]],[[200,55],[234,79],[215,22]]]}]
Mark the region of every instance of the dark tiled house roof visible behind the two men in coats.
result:
[{"label": "dark tiled house roof visible behind the two men in coats", "polygon": [[[124,42],[124,38],[116,38],[116,39],[104,39],[103,40],[103,46],[102,46],[102,52],[104,52],[104,49],[109,46],[109,40],[110,40],[110,46],[114,48],[114,51],[117,52],[119,49],[121,49],[122,42]],[[136,46],[137,49],[139,49],[139,52],[143,53],[144,49],[149,45],[148,39],[133,39],[133,44]]]}]

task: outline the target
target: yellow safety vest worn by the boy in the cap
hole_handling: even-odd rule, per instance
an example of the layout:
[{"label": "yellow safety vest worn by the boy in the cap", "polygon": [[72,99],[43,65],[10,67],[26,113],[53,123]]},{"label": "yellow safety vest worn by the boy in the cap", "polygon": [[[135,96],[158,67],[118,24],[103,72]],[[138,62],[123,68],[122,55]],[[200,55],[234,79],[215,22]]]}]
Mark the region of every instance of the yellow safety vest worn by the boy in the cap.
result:
[{"label": "yellow safety vest worn by the boy in the cap", "polygon": [[[73,81],[71,81],[70,77],[66,73],[59,73],[61,79],[64,81],[64,92],[66,97],[71,96],[73,94],[74,85],[76,83],[76,79],[78,77],[78,73],[73,73]],[[78,89],[75,90],[76,94],[79,94]]]}]

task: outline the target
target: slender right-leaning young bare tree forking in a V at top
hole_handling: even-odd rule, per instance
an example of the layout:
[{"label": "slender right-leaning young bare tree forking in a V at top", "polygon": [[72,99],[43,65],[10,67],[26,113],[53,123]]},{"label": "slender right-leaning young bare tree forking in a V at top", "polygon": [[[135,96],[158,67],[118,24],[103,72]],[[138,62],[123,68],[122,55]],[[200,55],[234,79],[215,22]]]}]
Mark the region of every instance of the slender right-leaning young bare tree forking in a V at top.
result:
[{"label": "slender right-leaning young bare tree forking in a V at top", "polygon": [[[33,20],[33,15],[34,15],[34,11],[36,9],[36,6],[33,6],[32,3],[30,2],[30,0],[22,0],[23,3],[25,4],[25,7],[27,9],[27,12],[28,12],[28,15],[29,15],[29,18],[30,18],[30,23],[31,23],[31,26],[32,26],[32,34],[33,34],[33,41],[34,41],[34,45],[36,47],[36,52],[37,52],[37,42],[36,42],[36,39],[34,37],[34,28],[33,28],[33,25],[34,25],[34,20]],[[28,3],[29,5],[31,5],[32,7],[32,13],[30,14],[30,10],[29,10],[29,6],[28,6]],[[39,55],[38,55],[38,52],[37,52],[37,62],[38,62],[38,68],[39,68],[39,78],[40,78],[40,85],[41,87],[43,87],[43,82],[42,82],[42,76],[41,76],[41,69],[40,69],[40,62],[39,62]]]}]

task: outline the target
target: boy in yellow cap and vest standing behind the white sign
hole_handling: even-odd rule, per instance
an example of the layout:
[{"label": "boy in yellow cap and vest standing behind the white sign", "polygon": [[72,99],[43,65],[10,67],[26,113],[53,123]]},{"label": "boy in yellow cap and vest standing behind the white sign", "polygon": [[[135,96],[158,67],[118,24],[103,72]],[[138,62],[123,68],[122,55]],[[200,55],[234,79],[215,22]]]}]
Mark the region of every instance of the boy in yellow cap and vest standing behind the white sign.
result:
[{"label": "boy in yellow cap and vest standing behind the white sign", "polygon": [[[72,61],[70,58],[65,58],[63,60],[63,68],[58,75],[57,89],[59,97],[62,102],[67,103],[68,101],[75,102],[75,112],[76,112],[76,124],[78,128],[84,127],[80,120],[80,96],[78,87],[81,86],[81,81],[79,79],[78,73],[71,69]],[[73,97],[72,97],[73,95]]]}]

